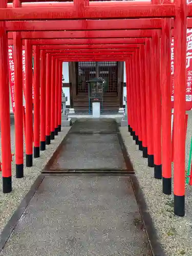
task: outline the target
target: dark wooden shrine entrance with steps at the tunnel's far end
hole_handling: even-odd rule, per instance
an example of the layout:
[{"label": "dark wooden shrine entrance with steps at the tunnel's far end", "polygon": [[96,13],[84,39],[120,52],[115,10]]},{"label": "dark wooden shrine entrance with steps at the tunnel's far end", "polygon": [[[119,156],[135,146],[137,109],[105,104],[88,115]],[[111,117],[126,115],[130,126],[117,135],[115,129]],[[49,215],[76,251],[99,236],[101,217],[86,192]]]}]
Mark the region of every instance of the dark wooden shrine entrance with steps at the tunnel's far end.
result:
[{"label": "dark wooden shrine entrance with steps at the tunnel's far end", "polygon": [[73,102],[75,111],[88,111],[88,82],[101,77],[106,81],[103,110],[118,112],[122,107],[123,62],[121,61],[78,61],[71,62]]}]

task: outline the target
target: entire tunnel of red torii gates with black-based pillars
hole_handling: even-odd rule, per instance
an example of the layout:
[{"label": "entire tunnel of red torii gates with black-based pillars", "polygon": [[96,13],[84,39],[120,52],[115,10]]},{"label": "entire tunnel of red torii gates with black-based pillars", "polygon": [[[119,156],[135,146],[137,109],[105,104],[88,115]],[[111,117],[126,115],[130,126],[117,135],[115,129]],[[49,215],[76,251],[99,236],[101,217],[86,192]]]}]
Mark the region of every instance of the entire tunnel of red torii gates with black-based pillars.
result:
[{"label": "entire tunnel of red torii gates with black-based pillars", "polygon": [[[143,157],[148,158],[148,166],[154,167],[154,177],[162,178],[162,192],[167,195],[172,193],[171,112],[174,99],[174,212],[184,216],[185,111],[192,105],[189,78],[186,82],[186,50],[191,50],[192,40],[187,37],[192,28],[191,16],[192,6],[186,0],[163,0],[162,3],[161,0],[51,3],[0,0],[3,193],[12,190],[9,108],[12,59],[17,178],[24,176],[23,127],[27,166],[32,166],[33,156],[39,157],[40,150],[45,150],[46,144],[50,144],[61,129],[62,61],[125,61],[129,131],[143,151]],[[174,69],[171,71],[172,37]],[[191,54],[187,52],[188,64]],[[25,123],[22,118],[23,90]]]}]

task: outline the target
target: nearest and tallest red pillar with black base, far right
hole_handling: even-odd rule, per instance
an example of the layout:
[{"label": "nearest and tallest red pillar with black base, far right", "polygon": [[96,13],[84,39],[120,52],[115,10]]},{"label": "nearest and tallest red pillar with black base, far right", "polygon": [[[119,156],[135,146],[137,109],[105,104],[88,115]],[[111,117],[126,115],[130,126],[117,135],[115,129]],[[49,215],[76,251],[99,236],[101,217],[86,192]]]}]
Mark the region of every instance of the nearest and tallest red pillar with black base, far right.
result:
[{"label": "nearest and tallest red pillar with black base, far right", "polygon": [[174,212],[185,215],[185,91],[186,91],[185,0],[175,2],[174,20]]}]

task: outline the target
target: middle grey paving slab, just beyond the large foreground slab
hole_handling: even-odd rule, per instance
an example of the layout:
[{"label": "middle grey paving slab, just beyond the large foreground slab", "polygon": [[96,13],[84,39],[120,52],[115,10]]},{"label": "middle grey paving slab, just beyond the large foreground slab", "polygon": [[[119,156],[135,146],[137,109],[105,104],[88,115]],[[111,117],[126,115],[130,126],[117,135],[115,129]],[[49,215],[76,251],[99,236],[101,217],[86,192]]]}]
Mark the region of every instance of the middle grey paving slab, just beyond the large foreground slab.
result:
[{"label": "middle grey paving slab, just beyond the large foreground slab", "polygon": [[117,134],[69,134],[50,170],[126,170]]}]

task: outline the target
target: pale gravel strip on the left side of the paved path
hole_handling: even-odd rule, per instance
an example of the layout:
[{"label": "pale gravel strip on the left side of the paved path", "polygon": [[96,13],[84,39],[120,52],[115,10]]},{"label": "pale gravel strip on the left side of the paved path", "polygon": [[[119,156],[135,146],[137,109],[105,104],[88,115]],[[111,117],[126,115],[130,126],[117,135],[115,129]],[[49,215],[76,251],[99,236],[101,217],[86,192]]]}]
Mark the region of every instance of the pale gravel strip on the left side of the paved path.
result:
[{"label": "pale gravel strip on the left side of the paved path", "polygon": [[[13,157],[12,162],[12,186],[13,191],[10,194],[2,193],[2,186],[0,186],[0,232],[11,218],[13,212],[18,207],[19,203],[25,197],[33,182],[40,174],[41,169],[44,168],[49,161],[57,146],[60,144],[63,138],[67,135],[71,127],[61,127],[61,132],[55,137],[54,141],[47,146],[46,151],[40,152],[40,157],[33,159],[32,167],[24,168],[25,177],[22,179],[16,179],[15,176],[15,161]],[[11,126],[11,147],[12,153],[14,153],[14,125]],[[24,158],[25,163],[25,158]],[[2,175],[0,173],[0,175]],[[2,178],[2,177],[1,177]]]}]

